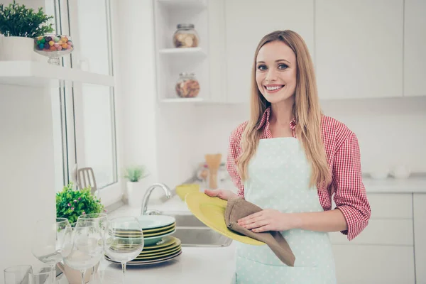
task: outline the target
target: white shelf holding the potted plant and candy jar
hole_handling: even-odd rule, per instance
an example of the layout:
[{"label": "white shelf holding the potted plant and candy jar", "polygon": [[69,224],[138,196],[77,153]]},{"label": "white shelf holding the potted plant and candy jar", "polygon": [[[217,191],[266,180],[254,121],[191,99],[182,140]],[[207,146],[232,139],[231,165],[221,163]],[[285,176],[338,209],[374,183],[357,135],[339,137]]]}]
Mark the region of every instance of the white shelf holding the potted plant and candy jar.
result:
[{"label": "white shelf holding the potted plant and candy jar", "polygon": [[1,61],[0,84],[60,87],[65,82],[81,82],[114,86],[114,77],[82,70],[50,65],[47,62]]}]

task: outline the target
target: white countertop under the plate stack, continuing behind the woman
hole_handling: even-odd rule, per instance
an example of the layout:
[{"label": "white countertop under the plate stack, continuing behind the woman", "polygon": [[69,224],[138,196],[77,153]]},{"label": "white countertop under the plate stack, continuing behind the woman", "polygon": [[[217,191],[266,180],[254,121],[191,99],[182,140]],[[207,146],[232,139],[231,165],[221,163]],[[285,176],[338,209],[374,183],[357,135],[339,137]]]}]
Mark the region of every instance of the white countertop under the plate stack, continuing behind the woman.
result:
[{"label": "white countertop under the plate stack, continuing behind the woman", "polygon": [[[426,193],[426,177],[413,177],[406,180],[363,179],[368,193]],[[222,182],[221,188],[236,191],[230,180]],[[163,214],[191,214],[185,202],[175,195],[163,204],[148,204]],[[109,213],[109,217],[135,216],[141,214],[141,207],[121,207]],[[151,267],[129,267],[126,283],[231,283],[235,271],[235,241],[222,248],[184,247],[182,254],[173,261]],[[121,266],[110,263],[105,272],[104,283],[121,284]]]}]

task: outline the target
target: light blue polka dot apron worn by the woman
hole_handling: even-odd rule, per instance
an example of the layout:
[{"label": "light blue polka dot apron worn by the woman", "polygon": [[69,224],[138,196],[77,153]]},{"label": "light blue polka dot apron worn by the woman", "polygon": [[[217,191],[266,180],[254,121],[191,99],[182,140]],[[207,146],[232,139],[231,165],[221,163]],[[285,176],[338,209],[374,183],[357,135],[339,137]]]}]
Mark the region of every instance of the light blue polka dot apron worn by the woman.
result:
[{"label": "light blue polka dot apron worn by the woman", "polygon": [[[309,187],[310,163],[296,138],[261,139],[248,170],[244,196],[258,207],[285,213],[324,211],[316,188]],[[281,234],[295,254],[295,266],[286,266],[266,245],[237,243],[236,283],[337,283],[328,233],[292,229]]]}]

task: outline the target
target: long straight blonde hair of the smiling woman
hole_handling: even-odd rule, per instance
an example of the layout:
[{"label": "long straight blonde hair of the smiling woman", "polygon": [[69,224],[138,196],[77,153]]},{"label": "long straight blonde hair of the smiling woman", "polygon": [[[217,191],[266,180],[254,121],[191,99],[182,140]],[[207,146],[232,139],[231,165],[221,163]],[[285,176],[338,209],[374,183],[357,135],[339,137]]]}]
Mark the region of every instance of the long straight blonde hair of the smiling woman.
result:
[{"label": "long straight blonde hair of the smiling woman", "polygon": [[237,162],[237,168],[242,180],[248,177],[247,167],[250,159],[256,153],[259,139],[263,129],[259,129],[263,113],[271,103],[266,101],[259,91],[256,83],[256,58],[259,50],[266,43],[281,41],[288,45],[296,55],[297,83],[295,88],[295,104],[293,115],[296,120],[296,137],[302,142],[307,160],[310,161],[312,175],[310,187],[320,186],[322,182],[329,182],[330,173],[327,164],[327,156],[321,139],[321,116],[315,71],[305,41],[294,31],[274,31],[265,35],[254,55],[252,79],[251,79],[251,115],[241,137],[241,155]]}]

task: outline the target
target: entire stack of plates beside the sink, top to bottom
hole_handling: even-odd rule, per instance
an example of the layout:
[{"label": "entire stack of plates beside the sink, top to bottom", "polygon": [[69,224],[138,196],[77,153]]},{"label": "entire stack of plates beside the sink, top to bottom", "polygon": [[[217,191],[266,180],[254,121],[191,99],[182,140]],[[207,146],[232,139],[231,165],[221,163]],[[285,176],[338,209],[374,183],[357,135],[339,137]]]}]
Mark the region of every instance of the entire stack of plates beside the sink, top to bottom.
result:
[{"label": "entire stack of plates beside the sink, top to bottom", "polygon": [[[170,236],[176,231],[175,218],[163,215],[142,215],[138,219],[143,231],[144,247],[139,256],[129,261],[128,265],[146,266],[162,263],[170,261],[182,253],[180,239]],[[117,233],[130,238],[134,234],[129,230]],[[112,261],[108,256],[105,257]]]}]

